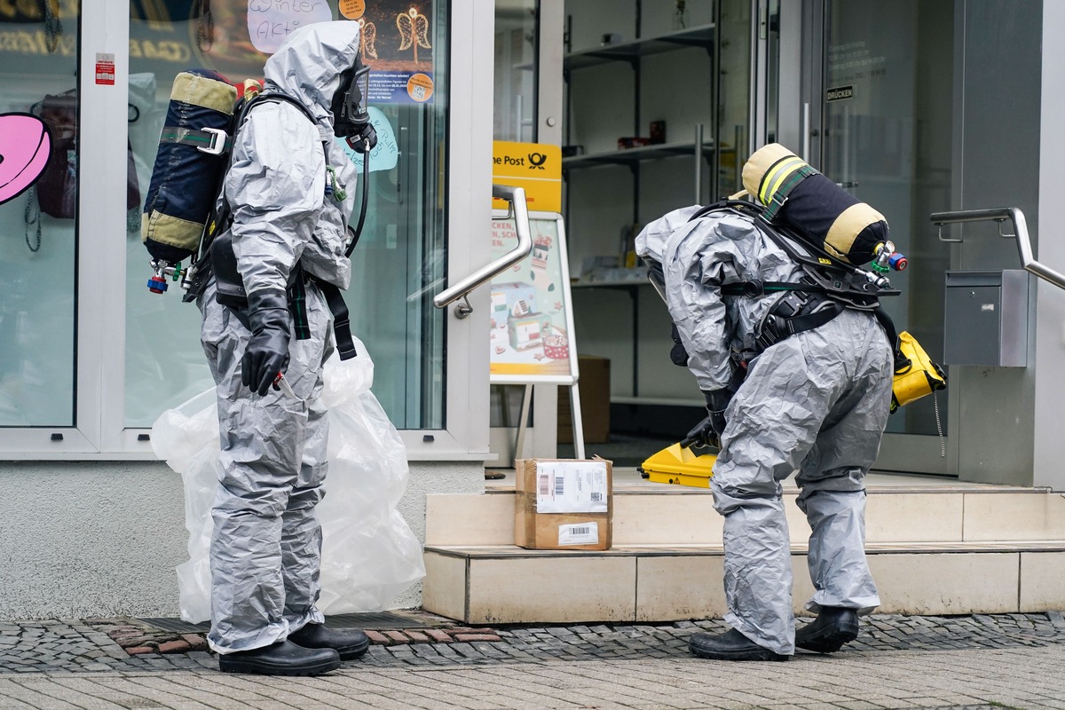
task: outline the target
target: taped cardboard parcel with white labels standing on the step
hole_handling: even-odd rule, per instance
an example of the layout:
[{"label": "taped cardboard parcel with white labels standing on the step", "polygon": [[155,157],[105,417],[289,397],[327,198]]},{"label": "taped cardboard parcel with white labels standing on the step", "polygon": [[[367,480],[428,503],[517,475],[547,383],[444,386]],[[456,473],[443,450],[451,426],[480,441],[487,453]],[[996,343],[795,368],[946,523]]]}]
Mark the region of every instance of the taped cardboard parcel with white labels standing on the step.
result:
[{"label": "taped cardboard parcel with white labels standing on the step", "polygon": [[514,544],[610,549],[613,476],[605,459],[514,461]]}]

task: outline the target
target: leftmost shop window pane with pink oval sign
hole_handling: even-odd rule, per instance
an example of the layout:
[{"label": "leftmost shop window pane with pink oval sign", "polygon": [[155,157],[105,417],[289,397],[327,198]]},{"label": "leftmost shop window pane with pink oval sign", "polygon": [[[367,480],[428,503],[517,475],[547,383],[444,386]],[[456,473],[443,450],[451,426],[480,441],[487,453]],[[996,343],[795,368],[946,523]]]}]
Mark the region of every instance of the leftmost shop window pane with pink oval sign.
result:
[{"label": "leftmost shop window pane with pink oval sign", "polygon": [[70,427],[80,3],[0,10],[0,427]]}]

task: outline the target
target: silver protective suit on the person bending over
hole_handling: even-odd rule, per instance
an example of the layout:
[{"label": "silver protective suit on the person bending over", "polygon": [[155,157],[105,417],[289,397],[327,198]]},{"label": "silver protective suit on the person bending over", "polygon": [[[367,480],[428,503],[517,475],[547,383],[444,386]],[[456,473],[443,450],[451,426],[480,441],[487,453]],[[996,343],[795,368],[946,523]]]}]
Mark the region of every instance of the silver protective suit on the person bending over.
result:
[{"label": "silver protective suit on the person bending over", "polygon": [[[662,265],[670,315],[704,391],[728,384],[731,352],[754,349],[782,297],[722,296],[742,281],[796,282],[801,267],[748,217],[686,208],[651,222],[638,253]],[[887,425],[892,356],[874,316],[846,310],[754,358],[725,411],[714,466],[715,508],[724,516],[725,622],[770,650],[794,653],[791,552],[781,481],[798,470],[797,500],[813,530],[816,590],[806,608],[880,604],[865,558],[864,478]]]}]

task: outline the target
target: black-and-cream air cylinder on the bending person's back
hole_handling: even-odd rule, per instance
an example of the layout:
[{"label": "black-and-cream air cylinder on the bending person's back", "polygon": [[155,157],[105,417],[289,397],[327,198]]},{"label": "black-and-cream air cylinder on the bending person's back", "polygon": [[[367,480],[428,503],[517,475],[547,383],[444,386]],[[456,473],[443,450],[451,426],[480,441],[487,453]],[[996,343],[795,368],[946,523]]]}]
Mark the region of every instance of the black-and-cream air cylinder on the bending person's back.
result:
[{"label": "black-and-cream air cylinder on the bending person's back", "polygon": [[743,186],[784,222],[833,257],[863,264],[887,241],[884,215],[807,165],[784,146],[759,148],[743,165]]}]

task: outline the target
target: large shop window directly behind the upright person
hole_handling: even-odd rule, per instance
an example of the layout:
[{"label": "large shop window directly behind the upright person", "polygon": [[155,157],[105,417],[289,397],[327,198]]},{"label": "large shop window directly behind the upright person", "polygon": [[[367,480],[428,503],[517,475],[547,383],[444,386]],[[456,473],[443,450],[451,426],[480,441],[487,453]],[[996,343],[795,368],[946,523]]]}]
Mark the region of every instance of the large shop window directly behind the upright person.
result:
[{"label": "large shop window directly behind the upright person", "polygon": [[[366,0],[297,4],[222,0],[130,3],[129,137],[147,189],[174,77],[214,69],[233,83],[262,77],[286,28],[348,19],[363,26],[370,105],[380,143],[362,192],[366,215],[345,294],[351,329],[375,363],[374,394],[403,429],[444,426],[444,312],[432,308],[445,275],[448,2]],[[342,12],[343,10],[343,12]],[[317,13],[317,14],[314,14]],[[347,13],[345,15],[344,13]],[[213,385],[199,343],[199,312],[176,285],[150,293],[140,216],[127,234],[126,426],[148,427],[165,409]]]}]

